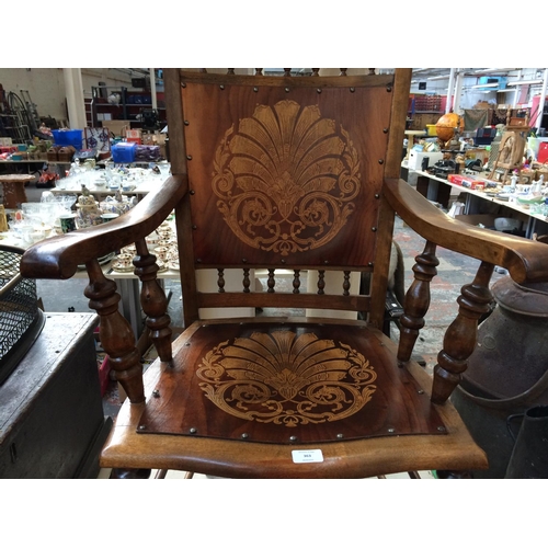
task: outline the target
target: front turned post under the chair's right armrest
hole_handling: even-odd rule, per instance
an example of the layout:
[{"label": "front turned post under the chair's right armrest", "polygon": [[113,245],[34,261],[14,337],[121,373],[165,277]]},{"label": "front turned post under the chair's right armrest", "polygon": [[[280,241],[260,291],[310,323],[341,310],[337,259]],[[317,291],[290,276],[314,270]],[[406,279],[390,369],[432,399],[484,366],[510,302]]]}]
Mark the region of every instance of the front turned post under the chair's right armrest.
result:
[{"label": "front turned post under the chair's right armrest", "polygon": [[463,286],[457,299],[458,316],[448,327],[443,350],[434,367],[432,401],[444,403],[460,381],[468,365],[468,357],[476,349],[478,320],[489,311],[492,300],[489,282],[494,265],[482,262],[471,284]]}]

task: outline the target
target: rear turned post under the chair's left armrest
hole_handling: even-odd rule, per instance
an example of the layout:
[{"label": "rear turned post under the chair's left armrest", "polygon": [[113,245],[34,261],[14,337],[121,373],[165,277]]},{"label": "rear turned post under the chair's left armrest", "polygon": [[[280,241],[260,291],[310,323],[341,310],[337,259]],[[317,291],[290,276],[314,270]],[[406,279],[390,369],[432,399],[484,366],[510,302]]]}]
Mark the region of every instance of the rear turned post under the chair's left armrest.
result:
[{"label": "rear turned post under the chair's left armrest", "polygon": [[135,248],[137,250],[137,256],[134,259],[135,274],[141,281],[140,304],[147,315],[146,324],[150,331],[150,339],[160,359],[171,363],[171,318],[167,313],[165,292],[158,283],[159,266],[156,262],[156,255],[149,253],[145,240],[136,241]]}]

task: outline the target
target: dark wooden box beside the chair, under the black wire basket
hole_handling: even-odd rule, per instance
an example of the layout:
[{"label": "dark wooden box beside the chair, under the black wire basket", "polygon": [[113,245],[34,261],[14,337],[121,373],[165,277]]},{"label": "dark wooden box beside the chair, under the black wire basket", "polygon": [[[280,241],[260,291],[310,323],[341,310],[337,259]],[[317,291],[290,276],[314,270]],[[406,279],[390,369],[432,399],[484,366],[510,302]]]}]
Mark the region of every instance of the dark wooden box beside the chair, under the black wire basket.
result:
[{"label": "dark wooden box beside the chair, under the black wire basket", "polygon": [[46,313],[0,386],[0,478],[95,478],[112,426],[104,416],[94,313]]}]

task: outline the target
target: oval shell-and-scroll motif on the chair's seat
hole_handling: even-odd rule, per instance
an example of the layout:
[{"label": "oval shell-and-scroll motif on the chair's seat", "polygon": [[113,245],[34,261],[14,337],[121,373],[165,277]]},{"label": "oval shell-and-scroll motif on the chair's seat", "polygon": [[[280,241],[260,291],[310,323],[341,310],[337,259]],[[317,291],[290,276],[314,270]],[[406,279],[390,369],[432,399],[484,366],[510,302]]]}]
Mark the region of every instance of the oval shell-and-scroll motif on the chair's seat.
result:
[{"label": "oval shell-and-scroll motif on the chair's seat", "polygon": [[206,397],[225,412],[289,427],[350,416],[377,388],[377,374],[361,353],[292,331],[222,342],[196,375]]}]

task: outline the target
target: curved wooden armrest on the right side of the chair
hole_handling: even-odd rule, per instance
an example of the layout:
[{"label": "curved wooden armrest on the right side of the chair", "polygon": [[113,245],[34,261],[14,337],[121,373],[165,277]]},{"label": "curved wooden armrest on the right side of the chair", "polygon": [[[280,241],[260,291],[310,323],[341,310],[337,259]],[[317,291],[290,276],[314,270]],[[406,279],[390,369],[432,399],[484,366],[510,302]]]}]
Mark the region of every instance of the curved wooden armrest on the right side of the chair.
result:
[{"label": "curved wooden armrest on the right side of the chair", "polygon": [[403,180],[385,180],[386,199],[418,235],[443,248],[507,269],[518,284],[548,281],[548,246],[453,219]]}]

